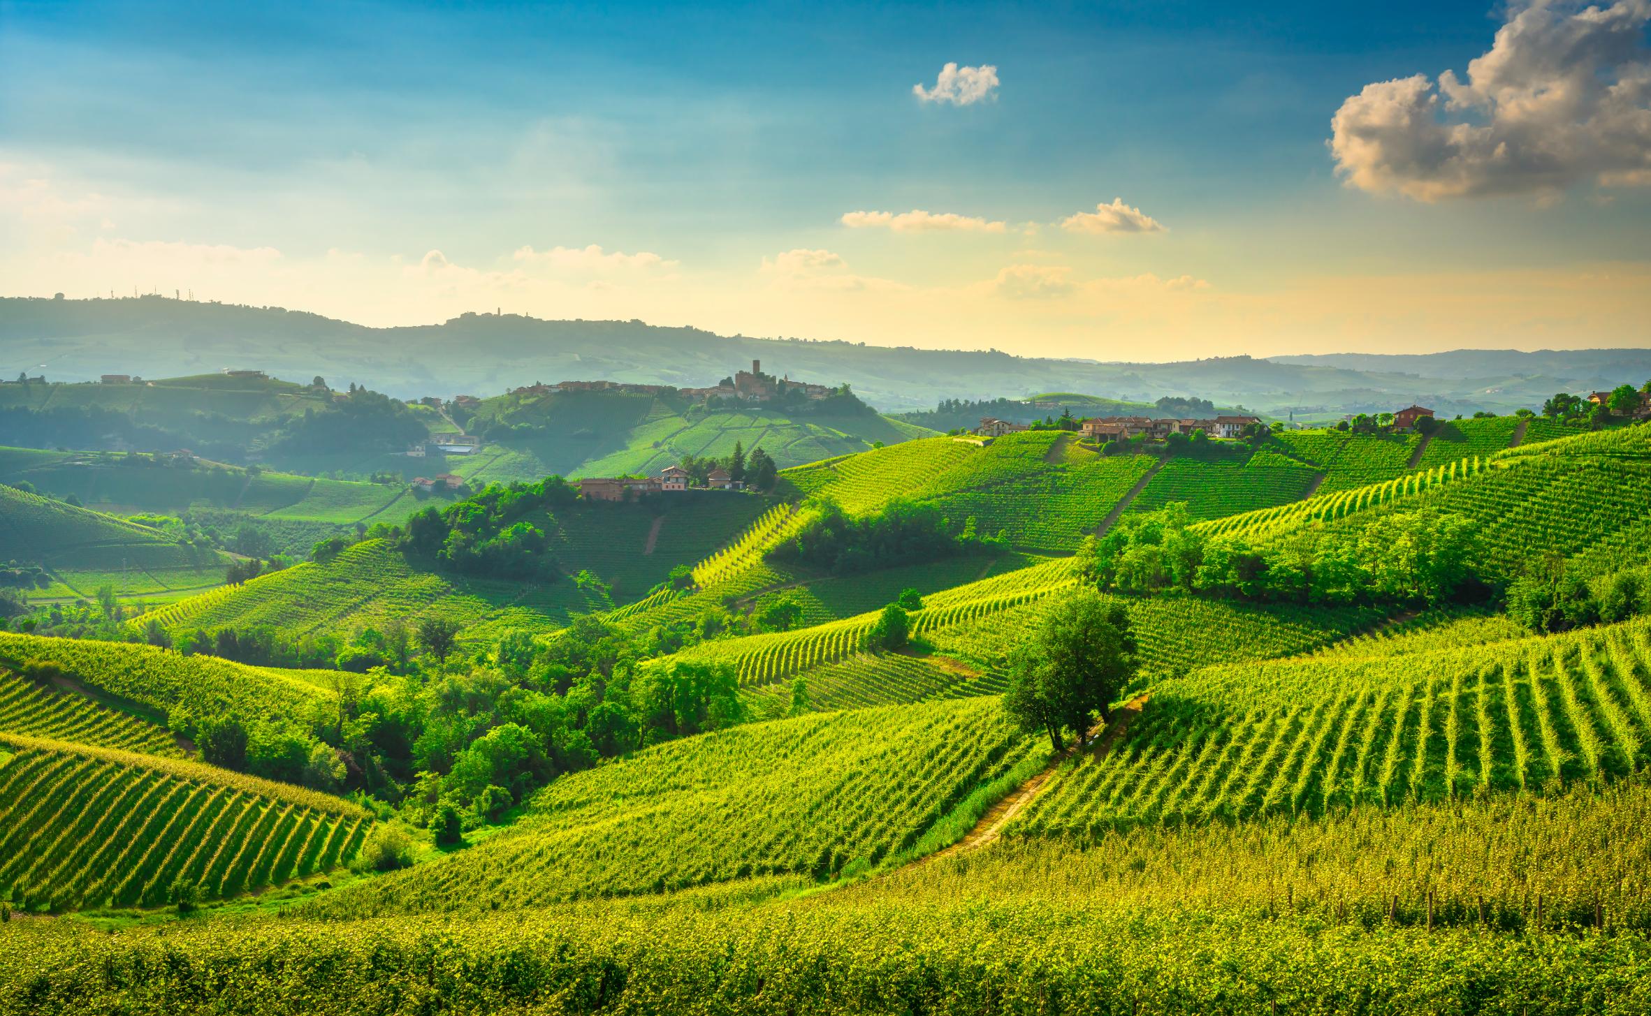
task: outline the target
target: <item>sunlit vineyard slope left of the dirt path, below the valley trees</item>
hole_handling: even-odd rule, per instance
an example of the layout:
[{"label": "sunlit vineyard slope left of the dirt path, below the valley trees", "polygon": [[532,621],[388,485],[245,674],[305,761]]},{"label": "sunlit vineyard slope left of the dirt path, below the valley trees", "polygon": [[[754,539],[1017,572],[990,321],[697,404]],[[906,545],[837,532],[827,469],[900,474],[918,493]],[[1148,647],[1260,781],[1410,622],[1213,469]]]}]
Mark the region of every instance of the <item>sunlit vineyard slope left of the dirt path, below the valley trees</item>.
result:
[{"label": "sunlit vineyard slope left of the dirt path, below the valley trees", "polygon": [[977,787],[1042,767],[1043,744],[996,699],[733,727],[556,780],[518,830],[315,907],[355,917],[829,879],[918,848]]}]

